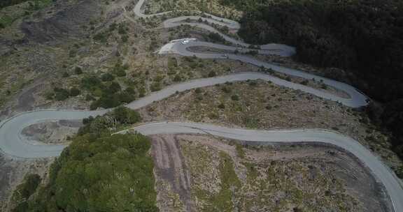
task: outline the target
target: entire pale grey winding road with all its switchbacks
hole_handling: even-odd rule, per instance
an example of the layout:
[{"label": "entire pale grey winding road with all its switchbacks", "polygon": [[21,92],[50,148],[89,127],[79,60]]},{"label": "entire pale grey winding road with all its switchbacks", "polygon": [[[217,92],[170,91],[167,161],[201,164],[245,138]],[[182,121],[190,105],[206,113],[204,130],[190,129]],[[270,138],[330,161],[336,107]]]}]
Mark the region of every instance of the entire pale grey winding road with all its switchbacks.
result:
[{"label": "entire pale grey winding road with all its switchbacks", "polygon": [[[154,15],[144,15],[141,13],[141,7],[145,0],[140,0],[136,7],[134,8],[134,13],[139,17],[151,17],[154,15],[162,15],[167,13],[159,13]],[[164,24],[178,23],[183,20],[180,17],[174,18],[172,20],[167,20]],[[197,17],[194,17],[197,18]],[[239,29],[239,24],[231,20],[221,19],[220,17],[211,16],[211,18],[206,18],[209,22],[220,22],[222,24],[227,24],[232,27],[232,29]],[[222,20],[222,22],[221,22]],[[167,27],[173,27],[174,25],[169,25]],[[208,25],[206,25],[208,26]],[[285,81],[283,79],[278,79],[271,75],[264,73],[239,73],[231,74],[220,77],[213,77],[207,79],[195,79],[189,82],[183,82],[181,84],[174,84],[168,86],[161,91],[151,93],[150,96],[136,100],[127,107],[132,109],[139,109],[157,100],[162,100],[176,93],[176,91],[185,91],[188,89],[195,89],[203,86],[211,86],[214,84],[222,84],[225,82],[236,82],[243,81],[247,79],[264,79],[274,82],[275,84],[281,86],[287,86],[292,89],[300,89],[306,93],[311,93],[315,96],[321,98],[326,98],[329,100],[338,101],[341,104],[347,105],[349,107],[361,107],[367,105],[367,97],[360,93],[353,86],[344,84],[341,82],[334,81],[332,79],[326,79],[323,77],[318,77],[316,75],[311,75],[309,73],[304,73],[299,70],[293,70],[290,68],[283,68],[281,66],[275,66],[264,61],[259,61],[244,55],[229,54],[226,58],[222,58],[220,54],[206,54],[206,53],[195,53],[190,52],[188,47],[195,45],[202,45],[206,47],[216,47],[225,50],[234,50],[236,47],[229,47],[223,45],[216,45],[212,43],[201,43],[195,42],[189,45],[181,45],[180,43],[169,43],[168,46],[162,48],[161,54],[181,54],[184,56],[197,56],[201,59],[234,59],[243,61],[246,63],[251,63],[255,66],[264,66],[266,68],[271,68],[279,73],[285,73],[288,75],[293,75],[297,77],[303,77],[305,79],[317,79],[323,80],[323,83],[334,86],[337,89],[345,91],[348,93],[350,98],[340,98],[334,96],[331,93],[326,93],[317,89],[313,89],[308,86],[303,86],[301,84],[295,84],[292,82]],[[265,45],[262,46],[261,54],[270,54],[271,52],[281,52],[283,56],[289,56],[292,47],[285,45]],[[271,51],[271,52],[270,52]],[[57,120],[77,120],[84,119],[88,116],[97,116],[105,114],[108,109],[97,110],[97,111],[66,111],[66,110],[39,110],[32,112],[25,112],[18,114],[17,116],[10,117],[0,122],[0,149],[3,153],[10,156],[20,157],[20,158],[45,158],[52,156],[59,156],[62,150],[66,147],[64,145],[46,145],[40,142],[32,143],[25,139],[21,132],[27,126],[34,123],[41,123],[44,121],[57,121]],[[390,196],[391,202],[396,212],[403,212],[403,189],[400,185],[397,176],[390,171],[389,167],[383,164],[379,158],[374,156],[374,154],[362,146],[359,142],[355,141],[351,137],[341,135],[337,132],[332,132],[329,130],[245,130],[245,129],[234,129],[225,128],[222,126],[207,125],[201,123],[146,123],[141,126],[136,126],[132,128],[137,132],[141,132],[144,135],[157,135],[157,134],[177,134],[177,133],[199,133],[199,134],[209,134],[219,137],[226,137],[229,139],[239,139],[243,141],[250,142],[261,142],[271,143],[271,142],[323,142],[326,144],[333,144],[339,146],[346,151],[353,153],[354,156],[359,158],[369,169],[372,171],[374,176],[378,181],[380,181],[386,188],[386,192]],[[122,131],[126,132],[126,131]]]}]

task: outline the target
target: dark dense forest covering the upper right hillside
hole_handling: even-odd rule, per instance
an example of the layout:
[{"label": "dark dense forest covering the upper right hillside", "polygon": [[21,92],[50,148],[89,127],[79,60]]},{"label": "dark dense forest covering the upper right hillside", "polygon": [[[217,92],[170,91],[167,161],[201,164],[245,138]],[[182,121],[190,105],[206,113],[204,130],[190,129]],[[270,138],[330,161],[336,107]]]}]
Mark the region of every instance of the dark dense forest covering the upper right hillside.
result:
[{"label": "dark dense forest covering the upper right hillside", "polygon": [[283,42],[297,59],[346,73],[348,80],[383,105],[371,105],[372,121],[394,134],[403,157],[403,3],[371,1],[229,1],[246,14],[239,35],[248,43]]}]

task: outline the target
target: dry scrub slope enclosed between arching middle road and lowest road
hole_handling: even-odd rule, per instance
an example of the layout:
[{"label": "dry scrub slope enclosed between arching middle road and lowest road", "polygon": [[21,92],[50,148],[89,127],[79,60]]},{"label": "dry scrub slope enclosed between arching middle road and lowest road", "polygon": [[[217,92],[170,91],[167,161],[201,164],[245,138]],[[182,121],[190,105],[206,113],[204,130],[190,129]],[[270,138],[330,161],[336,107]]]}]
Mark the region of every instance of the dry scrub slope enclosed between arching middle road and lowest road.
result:
[{"label": "dry scrub slope enclosed between arching middle road and lowest road", "polygon": [[145,121],[163,117],[241,128],[337,130],[367,146],[403,176],[402,160],[390,149],[388,134],[377,129],[365,112],[271,82],[227,82],[184,91],[140,111],[153,116]]}]

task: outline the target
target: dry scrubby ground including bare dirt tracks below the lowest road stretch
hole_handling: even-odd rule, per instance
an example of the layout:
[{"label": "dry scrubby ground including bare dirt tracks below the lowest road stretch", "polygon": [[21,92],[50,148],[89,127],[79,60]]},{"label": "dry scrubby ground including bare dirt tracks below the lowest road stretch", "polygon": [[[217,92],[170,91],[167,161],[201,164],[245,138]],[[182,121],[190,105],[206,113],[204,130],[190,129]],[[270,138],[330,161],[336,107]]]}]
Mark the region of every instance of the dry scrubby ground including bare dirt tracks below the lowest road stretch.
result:
[{"label": "dry scrubby ground including bare dirt tracks below the lowest road stretch", "polygon": [[390,211],[369,170],[333,146],[152,138],[161,211]]}]

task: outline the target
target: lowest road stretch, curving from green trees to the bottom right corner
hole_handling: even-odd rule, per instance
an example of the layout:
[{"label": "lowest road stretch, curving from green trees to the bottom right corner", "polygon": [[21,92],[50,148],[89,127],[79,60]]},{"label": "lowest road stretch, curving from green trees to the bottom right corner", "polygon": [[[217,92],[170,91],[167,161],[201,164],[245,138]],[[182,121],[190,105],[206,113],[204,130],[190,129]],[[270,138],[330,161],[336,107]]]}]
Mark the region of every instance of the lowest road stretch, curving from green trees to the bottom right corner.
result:
[{"label": "lowest road stretch, curving from green trees to the bottom right corner", "polygon": [[[132,128],[144,135],[196,133],[208,134],[246,142],[295,143],[323,142],[346,149],[371,169],[376,179],[383,183],[396,212],[403,211],[403,190],[397,176],[371,151],[351,137],[330,130],[246,130],[226,128],[204,123],[146,123]],[[127,130],[120,133],[125,133]]]}]

